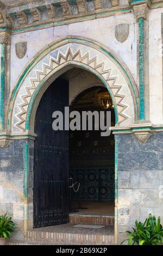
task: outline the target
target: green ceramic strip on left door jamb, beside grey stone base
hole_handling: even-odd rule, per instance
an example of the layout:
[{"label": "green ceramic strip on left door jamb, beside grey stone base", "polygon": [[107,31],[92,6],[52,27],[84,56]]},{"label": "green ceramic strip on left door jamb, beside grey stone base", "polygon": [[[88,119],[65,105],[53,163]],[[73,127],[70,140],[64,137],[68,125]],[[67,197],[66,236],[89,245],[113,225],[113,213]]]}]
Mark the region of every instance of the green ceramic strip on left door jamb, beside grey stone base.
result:
[{"label": "green ceramic strip on left door jamb, beside grey stone base", "polygon": [[24,199],[28,197],[29,144],[24,145]]}]

